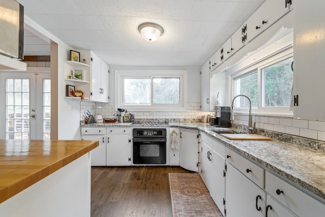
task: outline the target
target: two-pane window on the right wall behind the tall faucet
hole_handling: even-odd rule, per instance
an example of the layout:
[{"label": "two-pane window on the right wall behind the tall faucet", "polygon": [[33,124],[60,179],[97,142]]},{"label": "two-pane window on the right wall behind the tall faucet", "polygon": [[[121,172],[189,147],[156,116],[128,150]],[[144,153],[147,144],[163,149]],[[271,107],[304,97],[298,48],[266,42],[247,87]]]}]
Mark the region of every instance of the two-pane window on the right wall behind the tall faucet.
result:
[{"label": "two-pane window on the right wall behind the tall faucet", "polygon": [[[242,94],[251,99],[252,107],[261,111],[268,108],[289,111],[291,89],[293,87],[292,53],[250,67],[237,73],[234,79],[234,95]],[[236,107],[248,107],[246,98],[237,98]],[[269,110],[271,111],[271,110]]]}]

